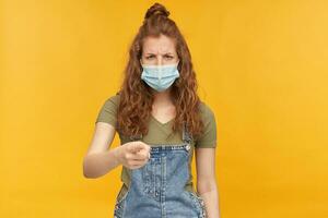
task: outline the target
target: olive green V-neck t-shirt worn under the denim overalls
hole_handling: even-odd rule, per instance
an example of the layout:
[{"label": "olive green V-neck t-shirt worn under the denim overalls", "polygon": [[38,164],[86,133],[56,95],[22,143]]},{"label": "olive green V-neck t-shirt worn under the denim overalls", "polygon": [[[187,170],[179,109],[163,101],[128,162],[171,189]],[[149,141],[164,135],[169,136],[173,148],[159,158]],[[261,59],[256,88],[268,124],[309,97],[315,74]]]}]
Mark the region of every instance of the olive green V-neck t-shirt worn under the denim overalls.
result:
[{"label": "olive green V-neck t-shirt worn under the denim overalls", "polygon": [[[117,108],[119,106],[119,99],[120,99],[119,94],[110,96],[108,99],[106,99],[98,111],[95,123],[105,122],[116,128],[117,124],[116,116],[117,116]],[[185,187],[187,191],[190,192],[195,192],[192,185],[192,174],[191,174],[191,160],[194,157],[194,148],[216,146],[216,123],[215,123],[214,113],[210,109],[210,107],[208,107],[203,101],[200,101],[200,112],[201,112],[202,121],[204,123],[204,132],[202,136],[191,142],[191,150],[190,150],[191,155],[189,158],[190,178]],[[175,133],[172,132],[173,121],[174,119],[169,120],[166,123],[162,123],[159,120],[156,120],[153,116],[151,116],[151,119],[149,121],[149,126],[148,126],[149,132],[147,135],[143,135],[140,141],[142,141],[145,144],[149,144],[150,146],[156,144],[165,144],[165,145],[181,144],[183,143],[181,133],[179,131],[176,131]],[[118,134],[119,134],[121,145],[131,141],[129,137],[120,134],[119,132]],[[120,180],[125,185],[122,185],[122,189],[119,193],[119,197],[125,194],[128,186],[130,185],[130,178],[131,178],[130,175],[131,175],[130,170],[125,166],[122,166]]]}]

